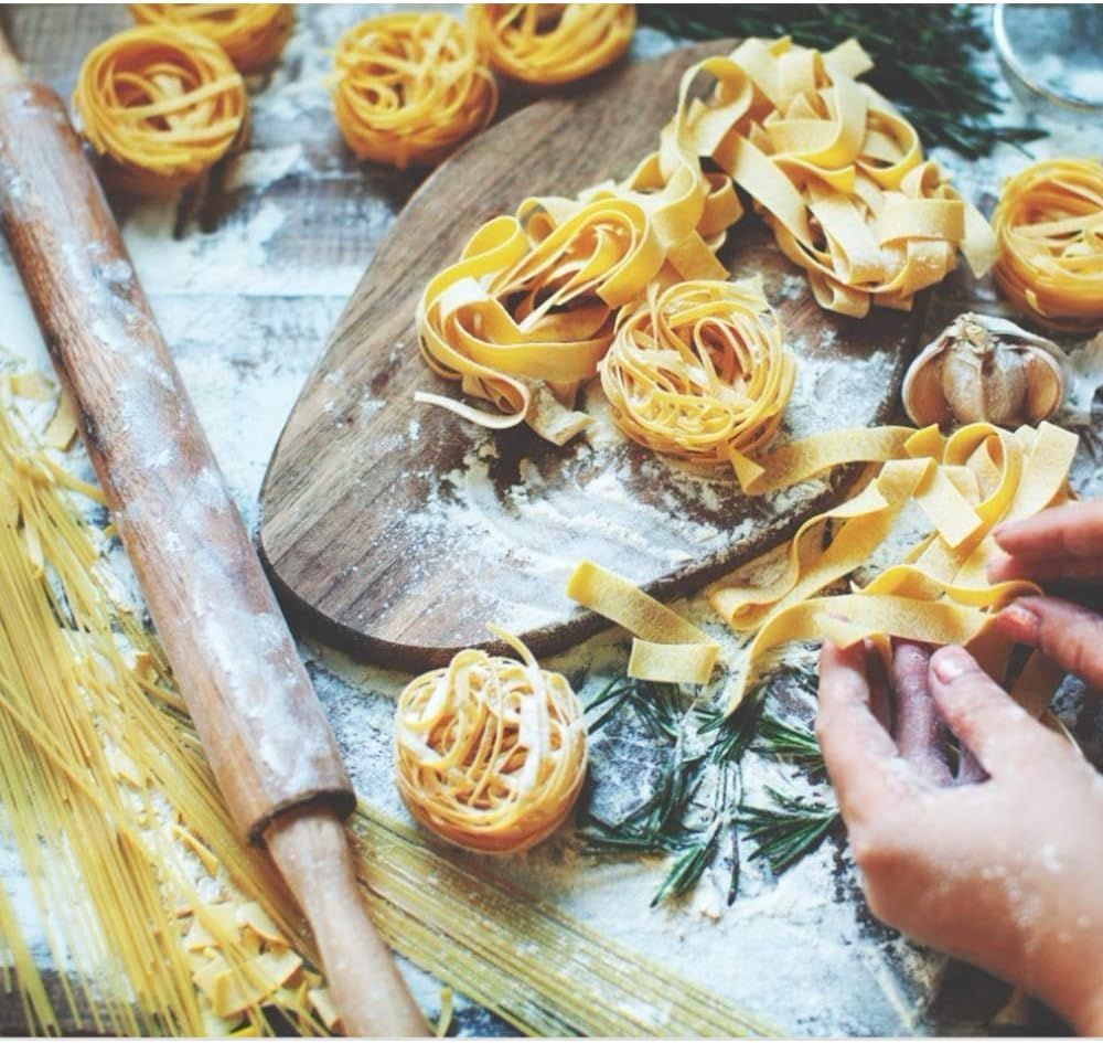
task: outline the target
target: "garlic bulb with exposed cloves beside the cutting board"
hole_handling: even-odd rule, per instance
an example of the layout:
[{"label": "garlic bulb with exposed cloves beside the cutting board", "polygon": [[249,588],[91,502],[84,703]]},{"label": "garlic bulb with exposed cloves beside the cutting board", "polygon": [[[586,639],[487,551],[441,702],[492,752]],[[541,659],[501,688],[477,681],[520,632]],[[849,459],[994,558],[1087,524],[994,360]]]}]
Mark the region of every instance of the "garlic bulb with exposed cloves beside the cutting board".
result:
[{"label": "garlic bulb with exposed cloves beside the cutting board", "polygon": [[919,427],[1040,424],[1064,397],[1064,352],[1006,319],[965,312],[911,363],[903,407]]}]

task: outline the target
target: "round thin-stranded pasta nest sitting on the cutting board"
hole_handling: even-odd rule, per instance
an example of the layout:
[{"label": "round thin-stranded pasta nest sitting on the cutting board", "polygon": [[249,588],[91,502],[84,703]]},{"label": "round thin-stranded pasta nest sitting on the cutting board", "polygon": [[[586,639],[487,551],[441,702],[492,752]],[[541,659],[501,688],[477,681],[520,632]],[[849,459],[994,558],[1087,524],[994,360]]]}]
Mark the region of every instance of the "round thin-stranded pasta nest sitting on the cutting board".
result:
[{"label": "round thin-stranded pasta nest sitting on the cutting board", "polygon": [[621,311],[600,365],[613,419],[630,438],[706,467],[771,441],[796,363],[760,279],[695,280]]}]

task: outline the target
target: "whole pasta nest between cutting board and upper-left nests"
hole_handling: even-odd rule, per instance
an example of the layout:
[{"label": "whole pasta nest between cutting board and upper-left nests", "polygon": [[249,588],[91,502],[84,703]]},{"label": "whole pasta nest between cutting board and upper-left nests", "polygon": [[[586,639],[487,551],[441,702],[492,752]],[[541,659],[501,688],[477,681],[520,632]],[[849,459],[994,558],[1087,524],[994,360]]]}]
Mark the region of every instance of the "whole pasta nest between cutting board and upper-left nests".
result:
[{"label": "whole pasta nest between cutting board and upper-left nests", "polygon": [[474,36],[450,14],[387,14],[338,42],[333,106],[361,159],[439,162],[482,130],[497,107],[494,76]]}]

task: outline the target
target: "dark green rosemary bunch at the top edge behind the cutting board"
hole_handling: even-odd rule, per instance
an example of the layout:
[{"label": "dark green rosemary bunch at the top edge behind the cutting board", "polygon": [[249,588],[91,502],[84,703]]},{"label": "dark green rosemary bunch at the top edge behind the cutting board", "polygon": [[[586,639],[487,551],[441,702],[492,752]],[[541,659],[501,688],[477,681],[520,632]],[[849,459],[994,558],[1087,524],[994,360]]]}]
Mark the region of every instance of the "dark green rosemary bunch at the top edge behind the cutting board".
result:
[{"label": "dark green rosemary bunch at the top edge behind the cutting board", "polygon": [[875,63],[865,82],[903,111],[925,146],[944,145],[968,159],[1045,134],[992,121],[1003,106],[992,77],[975,62],[990,47],[981,10],[965,3],[639,6],[645,24],[697,40],[788,34],[826,50],[856,36]]}]

